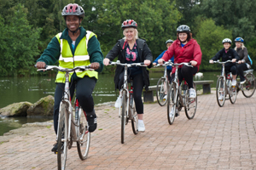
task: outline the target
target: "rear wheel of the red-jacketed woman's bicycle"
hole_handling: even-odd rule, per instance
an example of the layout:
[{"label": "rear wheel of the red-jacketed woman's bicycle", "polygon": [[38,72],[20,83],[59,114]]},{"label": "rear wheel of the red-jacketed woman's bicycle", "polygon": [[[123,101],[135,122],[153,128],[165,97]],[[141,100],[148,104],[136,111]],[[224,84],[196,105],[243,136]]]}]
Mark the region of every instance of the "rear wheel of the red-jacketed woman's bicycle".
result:
[{"label": "rear wheel of the red-jacketed woman's bicycle", "polygon": [[197,108],[197,93],[195,82],[193,82],[193,87],[195,89],[195,99],[189,99],[189,86],[186,85],[186,94],[185,94],[185,113],[188,119],[193,119],[195,116],[196,108]]}]

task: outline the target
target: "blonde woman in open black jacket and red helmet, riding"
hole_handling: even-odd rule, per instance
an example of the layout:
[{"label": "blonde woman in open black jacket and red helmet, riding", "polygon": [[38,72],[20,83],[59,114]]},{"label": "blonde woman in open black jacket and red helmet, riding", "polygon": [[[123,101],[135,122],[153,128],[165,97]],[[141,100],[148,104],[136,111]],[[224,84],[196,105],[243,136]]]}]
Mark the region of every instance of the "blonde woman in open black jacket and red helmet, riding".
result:
[{"label": "blonde woman in open black jacket and red helmet, riding", "polygon": [[[108,52],[103,60],[104,65],[109,65],[118,56],[120,63],[140,63],[151,67],[153,56],[145,40],[138,37],[137,22],[135,20],[125,20],[122,23],[124,38],[120,39]],[[146,67],[131,67],[128,75],[133,79],[133,96],[138,116],[138,131],[144,132],[143,122],[143,87],[148,89],[149,75]],[[115,88],[122,88],[124,83],[124,67],[117,65],[114,75]],[[117,99],[115,106],[120,106],[121,96]]]}]

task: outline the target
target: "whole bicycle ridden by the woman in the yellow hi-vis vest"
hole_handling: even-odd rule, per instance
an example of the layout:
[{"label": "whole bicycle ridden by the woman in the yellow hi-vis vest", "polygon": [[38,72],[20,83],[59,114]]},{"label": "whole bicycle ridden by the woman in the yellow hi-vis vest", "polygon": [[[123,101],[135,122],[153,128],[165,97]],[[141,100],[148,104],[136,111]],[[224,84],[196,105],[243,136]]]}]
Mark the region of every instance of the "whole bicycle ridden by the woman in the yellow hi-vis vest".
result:
[{"label": "whole bicycle ridden by the woman in the yellow hi-vis vest", "polygon": [[[73,106],[69,91],[69,72],[73,71],[86,71],[91,70],[90,65],[77,66],[73,69],[66,69],[55,65],[46,65],[45,69],[38,69],[38,71],[65,71],[65,89],[64,96],[61,99],[60,111],[59,111],[59,123],[57,132],[57,144],[58,151],[57,161],[58,169],[66,168],[67,161],[67,149],[72,148],[73,141],[77,142],[77,149],[79,157],[83,161],[87,158],[90,147],[90,132],[88,131],[89,125],[87,117],[78,99],[75,99],[75,116],[73,117]],[[61,150],[61,151],[60,151]]]}]

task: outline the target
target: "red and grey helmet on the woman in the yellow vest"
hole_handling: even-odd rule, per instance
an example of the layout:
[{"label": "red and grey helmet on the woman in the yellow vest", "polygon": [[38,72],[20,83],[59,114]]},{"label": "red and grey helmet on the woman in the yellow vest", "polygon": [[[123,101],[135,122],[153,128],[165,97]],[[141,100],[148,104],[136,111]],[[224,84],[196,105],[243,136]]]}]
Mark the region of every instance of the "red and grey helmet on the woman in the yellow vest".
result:
[{"label": "red and grey helmet on the woman in the yellow vest", "polygon": [[64,17],[67,15],[77,15],[84,18],[84,8],[77,3],[69,3],[62,9],[61,15]]}]

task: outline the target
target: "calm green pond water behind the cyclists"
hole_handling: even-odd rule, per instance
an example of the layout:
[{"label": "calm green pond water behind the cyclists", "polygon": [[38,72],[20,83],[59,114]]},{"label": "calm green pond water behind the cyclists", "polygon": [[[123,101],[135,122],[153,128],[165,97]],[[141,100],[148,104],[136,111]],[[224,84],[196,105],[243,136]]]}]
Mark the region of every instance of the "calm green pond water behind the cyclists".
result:
[{"label": "calm green pond water behind the cyclists", "polygon": [[[213,80],[215,87],[220,72],[203,72],[201,80]],[[150,85],[156,85],[163,72],[150,72]],[[93,93],[95,105],[115,101],[118,91],[114,90],[113,74],[100,74]],[[196,79],[195,79],[196,80]],[[85,87],[84,87],[85,88]],[[200,88],[200,87],[199,87]],[[55,93],[55,76],[47,77],[0,77],[0,108],[7,105],[28,101],[37,102],[47,95]],[[9,130],[21,127],[26,122],[45,122],[52,117],[26,118],[26,117],[0,117],[0,135]]]}]

